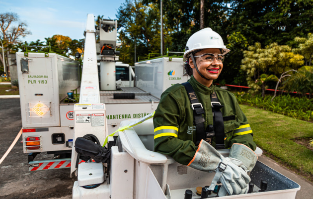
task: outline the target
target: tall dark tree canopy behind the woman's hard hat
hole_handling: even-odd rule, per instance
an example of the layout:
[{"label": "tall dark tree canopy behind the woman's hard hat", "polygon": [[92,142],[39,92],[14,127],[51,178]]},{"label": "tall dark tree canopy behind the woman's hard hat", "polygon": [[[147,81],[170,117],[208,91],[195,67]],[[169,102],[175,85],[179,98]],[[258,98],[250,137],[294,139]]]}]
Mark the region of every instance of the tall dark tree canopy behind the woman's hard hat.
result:
[{"label": "tall dark tree canopy behind the woman's hard hat", "polygon": [[[164,37],[168,38],[164,39],[164,46],[169,47],[171,51],[183,52],[188,38],[200,30],[201,0],[162,2]],[[307,38],[307,35],[313,32],[312,0],[216,0],[204,1],[203,7],[204,27],[211,27],[219,33],[224,44],[231,50],[224,61],[227,70],[223,70],[219,77],[219,80],[224,79],[228,84],[246,84],[247,75],[240,69],[240,65],[243,52],[248,50],[248,46],[258,42],[260,48],[272,43],[297,48],[303,39],[300,41],[295,38]],[[148,52],[158,53],[159,8],[160,0],[127,0],[121,5],[116,17],[119,20],[119,28],[123,29],[123,42],[128,46],[128,50],[121,50],[121,57],[125,57],[122,61],[133,63],[134,40],[129,32],[137,39],[137,57],[147,56]],[[149,38],[144,36],[147,32],[151,33]],[[154,38],[155,42],[149,46],[147,39],[151,38]],[[308,41],[311,40],[308,38]],[[310,58],[305,57],[309,63]]]}]

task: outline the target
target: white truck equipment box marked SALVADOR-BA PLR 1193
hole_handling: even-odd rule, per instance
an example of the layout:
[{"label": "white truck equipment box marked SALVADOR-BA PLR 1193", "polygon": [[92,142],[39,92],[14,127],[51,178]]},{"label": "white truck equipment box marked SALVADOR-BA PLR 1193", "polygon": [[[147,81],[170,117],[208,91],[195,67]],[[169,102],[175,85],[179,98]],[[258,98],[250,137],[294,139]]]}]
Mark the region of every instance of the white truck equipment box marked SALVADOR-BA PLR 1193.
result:
[{"label": "white truck equipment box marked SALVADOR-BA PLR 1193", "polygon": [[79,63],[55,53],[16,53],[23,128],[60,126],[60,101],[79,86]]}]

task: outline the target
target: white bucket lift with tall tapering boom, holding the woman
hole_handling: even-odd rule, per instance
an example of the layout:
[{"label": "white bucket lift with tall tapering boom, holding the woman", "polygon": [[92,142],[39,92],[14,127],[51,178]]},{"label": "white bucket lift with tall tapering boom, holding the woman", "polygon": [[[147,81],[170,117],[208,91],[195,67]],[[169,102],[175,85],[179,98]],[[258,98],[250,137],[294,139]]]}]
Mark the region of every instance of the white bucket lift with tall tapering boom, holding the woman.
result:
[{"label": "white bucket lift with tall tapering boom, holding the woman", "polygon": [[[78,181],[74,183],[73,199],[186,199],[186,190],[192,191],[189,199],[200,199],[201,197],[195,194],[196,188],[210,185],[215,174],[180,165],[173,158],[154,152],[152,119],[134,127],[119,130],[117,138],[108,137],[106,147],[111,150],[110,164],[91,161],[79,164],[80,160],[75,151],[75,141],[78,137],[93,134],[102,146],[105,137],[108,136],[106,108],[105,104],[99,103],[99,87],[94,87],[92,90],[83,89],[85,86],[96,85],[98,81],[95,52],[96,30],[93,18],[92,14],[88,14],[81,81],[82,98],[74,107],[76,122],[71,174],[76,171]],[[102,22],[103,20],[100,22],[102,24],[100,27],[104,27],[104,32],[113,25],[111,21],[108,24]],[[100,42],[100,45],[108,44],[108,41],[111,40]],[[100,55],[97,59],[101,59],[101,62],[104,63],[114,63],[115,57],[116,54]],[[105,64],[103,66],[105,68]],[[84,98],[84,95],[87,96]],[[88,95],[91,98],[88,98]],[[84,101],[83,99],[89,100]],[[134,120],[124,120],[120,126],[129,126],[132,122]],[[225,157],[228,156],[229,151],[229,149],[219,150]],[[262,150],[257,148],[255,153],[260,156]],[[259,161],[250,173],[250,177],[254,183],[251,194],[220,198],[295,199],[297,191],[300,190],[297,183]],[[266,192],[259,188],[261,180],[268,182]],[[209,196],[209,198],[215,197],[214,193]]]}]

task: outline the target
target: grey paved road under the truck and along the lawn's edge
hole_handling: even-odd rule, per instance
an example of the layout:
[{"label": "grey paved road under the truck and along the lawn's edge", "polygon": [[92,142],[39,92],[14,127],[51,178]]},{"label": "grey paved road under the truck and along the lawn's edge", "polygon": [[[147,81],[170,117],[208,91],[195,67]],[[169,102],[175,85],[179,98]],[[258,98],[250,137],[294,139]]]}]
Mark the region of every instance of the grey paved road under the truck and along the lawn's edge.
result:
[{"label": "grey paved road under the truck and along the lawn's edge", "polygon": [[[0,99],[0,157],[6,152],[22,122],[19,99]],[[0,165],[0,199],[71,199],[76,177],[70,178],[69,169],[28,172],[27,156],[22,143],[15,144]],[[49,158],[40,154],[36,159]],[[301,186],[296,199],[312,199],[313,184],[275,161],[261,156],[259,161],[287,176]]]}]

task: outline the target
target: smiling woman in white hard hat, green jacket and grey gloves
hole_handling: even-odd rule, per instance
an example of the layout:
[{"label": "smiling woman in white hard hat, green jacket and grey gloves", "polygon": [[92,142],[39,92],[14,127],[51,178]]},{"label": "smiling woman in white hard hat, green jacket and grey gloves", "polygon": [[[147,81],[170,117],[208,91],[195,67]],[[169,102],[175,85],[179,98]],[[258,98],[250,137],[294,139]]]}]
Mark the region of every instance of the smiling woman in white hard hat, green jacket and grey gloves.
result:
[{"label": "smiling woman in white hard hat, green jacket and grey gloves", "polygon": [[[184,53],[191,77],[162,94],[154,115],[155,151],[180,164],[217,172],[215,181],[223,184],[219,196],[247,193],[246,172],[257,160],[252,130],[234,94],[212,84],[228,52],[222,37],[211,28],[194,33]],[[223,148],[231,148],[230,158],[216,150]]]}]

